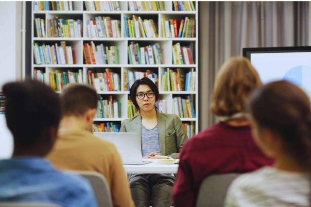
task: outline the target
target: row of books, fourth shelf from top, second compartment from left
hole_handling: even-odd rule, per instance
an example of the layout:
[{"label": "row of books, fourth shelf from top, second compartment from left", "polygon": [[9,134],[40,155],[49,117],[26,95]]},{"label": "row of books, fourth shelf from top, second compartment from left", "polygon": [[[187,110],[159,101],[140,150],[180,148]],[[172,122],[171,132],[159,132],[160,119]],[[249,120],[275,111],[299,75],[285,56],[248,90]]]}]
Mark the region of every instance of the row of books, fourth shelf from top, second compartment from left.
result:
[{"label": "row of books, fourth shelf from top, second compartment from left", "polygon": [[88,84],[100,91],[121,91],[120,75],[114,73],[109,68],[105,68],[104,72],[96,72],[95,70],[87,70]]}]

